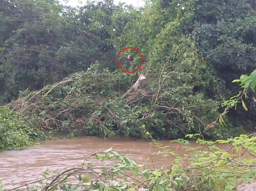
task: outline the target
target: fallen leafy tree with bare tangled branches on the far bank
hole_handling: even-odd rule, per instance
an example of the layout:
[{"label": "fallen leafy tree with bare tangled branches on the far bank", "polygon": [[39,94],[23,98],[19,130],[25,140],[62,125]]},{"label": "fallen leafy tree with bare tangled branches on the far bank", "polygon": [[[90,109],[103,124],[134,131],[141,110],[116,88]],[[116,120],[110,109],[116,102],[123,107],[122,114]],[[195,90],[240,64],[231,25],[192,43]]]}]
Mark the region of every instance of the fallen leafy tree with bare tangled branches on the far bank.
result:
[{"label": "fallen leafy tree with bare tangled branches on the far bank", "polygon": [[95,63],[39,91],[22,92],[8,106],[39,129],[72,135],[143,137],[145,125],[153,138],[181,138],[198,128],[212,138],[230,136],[227,128],[205,129],[218,117],[219,103],[195,90],[204,68],[189,38],[173,44],[167,57],[151,55],[139,70],[146,79],[137,81],[138,73],[121,70],[99,71]]}]

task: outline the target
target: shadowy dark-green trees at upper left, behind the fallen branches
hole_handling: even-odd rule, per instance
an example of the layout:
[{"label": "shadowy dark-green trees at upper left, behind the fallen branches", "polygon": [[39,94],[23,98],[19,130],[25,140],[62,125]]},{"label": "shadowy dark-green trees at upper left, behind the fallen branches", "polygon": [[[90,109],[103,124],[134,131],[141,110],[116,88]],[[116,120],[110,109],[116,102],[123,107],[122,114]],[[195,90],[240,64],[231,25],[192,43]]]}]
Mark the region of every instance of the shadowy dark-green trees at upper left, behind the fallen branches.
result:
[{"label": "shadowy dark-green trees at upper left, behind the fallen branches", "polygon": [[[51,1],[3,1],[0,43],[0,90],[2,102],[9,102],[18,92],[61,81],[67,75],[86,70],[99,60],[103,66],[117,68],[115,49],[109,28],[123,8],[113,1],[89,3],[77,10]],[[124,22],[129,17],[122,15]],[[118,35],[118,34],[117,34]],[[15,56],[13,56],[15,55]]]}]

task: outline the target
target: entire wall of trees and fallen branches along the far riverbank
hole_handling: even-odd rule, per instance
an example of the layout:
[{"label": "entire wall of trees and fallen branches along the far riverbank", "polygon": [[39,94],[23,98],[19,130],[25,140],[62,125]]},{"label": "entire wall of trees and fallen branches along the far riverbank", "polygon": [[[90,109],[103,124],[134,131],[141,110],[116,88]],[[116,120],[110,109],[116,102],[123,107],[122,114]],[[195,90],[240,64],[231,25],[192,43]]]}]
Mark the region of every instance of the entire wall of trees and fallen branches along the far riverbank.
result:
[{"label": "entire wall of trees and fallen branches along the far riverbank", "polygon": [[[139,9],[112,0],[80,8],[3,0],[0,102],[32,128],[71,135],[142,137],[143,125],[154,138],[238,135],[243,129],[232,117],[254,123],[255,102],[243,98],[247,113],[220,103],[239,91],[233,79],[255,69],[255,13],[250,0],[152,0]],[[118,69],[125,47],[142,53],[139,72]],[[125,53],[136,70],[139,53],[123,51],[121,66]],[[132,88],[140,74],[146,80]],[[219,117],[223,106],[228,118]]]}]

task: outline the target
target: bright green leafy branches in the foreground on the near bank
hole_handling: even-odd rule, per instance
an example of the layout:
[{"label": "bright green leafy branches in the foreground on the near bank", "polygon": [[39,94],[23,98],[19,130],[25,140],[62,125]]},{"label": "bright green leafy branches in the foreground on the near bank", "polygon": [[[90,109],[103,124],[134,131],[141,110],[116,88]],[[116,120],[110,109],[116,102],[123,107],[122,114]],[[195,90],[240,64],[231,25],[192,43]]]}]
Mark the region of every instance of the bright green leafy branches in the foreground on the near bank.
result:
[{"label": "bright green leafy branches in the foreground on the near bank", "polygon": [[[198,135],[190,134],[187,137],[195,138]],[[182,144],[183,148],[193,151],[183,157],[155,142],[161,151],[153,154],[175,156],[174,161],[161,168],[147,168],[144,164],[136,164],[134,160],[110,148],[90,156],[97,160],[109,160],[108,165],[102,164],[101,168],[86,163],[88,157],[83,164],[58,175],[53,175],[47,169],[40,180],[9,191],[24,190],[24,186],[27,186],[28,191],[137,191],[137,188],[144,191],[233,191],[241,182],[256,179],[255,140],[255,135],[240,135],[234,139],[217,141],[197,138],[198,144],[207,147],[199,151],[198,148],[186,146],[189,143],[187,140],[174,140]],[[220,149],[216,143],[227,144],[227,148]],[[111,162],[114,164],[109,166]],[[2,190],[4,187],[0,186],[0,191]]]}]

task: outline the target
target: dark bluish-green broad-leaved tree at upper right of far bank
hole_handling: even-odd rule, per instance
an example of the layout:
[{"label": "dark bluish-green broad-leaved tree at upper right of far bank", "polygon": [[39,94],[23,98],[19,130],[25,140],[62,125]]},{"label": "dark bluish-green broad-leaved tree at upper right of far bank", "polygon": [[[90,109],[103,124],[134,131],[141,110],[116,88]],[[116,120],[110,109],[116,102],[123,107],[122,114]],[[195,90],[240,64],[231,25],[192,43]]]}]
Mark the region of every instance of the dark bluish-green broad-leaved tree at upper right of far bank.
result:
[{"label": "dark bluish-green broad-leaved tree at upper right of far bank", "polygon": [[[231,81],[242,74],[250,74],[255,67],[255,21],[254,1],[198,1],[194,3],[193,33],[198,51],[206,57],[220,81],[211,86],[212,98],[224,101],[239,91]],[[211,11],[209,11],[211,10]],[[250,92],[250,96],[253,94]],[[239,121],[254,121],[255,104],[245,100],[250,113],[238,110],[230,112],[234,124]],[[245,124],[248,126],[248,123]]]}]

